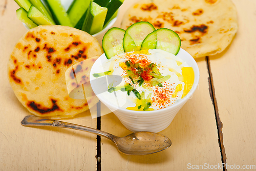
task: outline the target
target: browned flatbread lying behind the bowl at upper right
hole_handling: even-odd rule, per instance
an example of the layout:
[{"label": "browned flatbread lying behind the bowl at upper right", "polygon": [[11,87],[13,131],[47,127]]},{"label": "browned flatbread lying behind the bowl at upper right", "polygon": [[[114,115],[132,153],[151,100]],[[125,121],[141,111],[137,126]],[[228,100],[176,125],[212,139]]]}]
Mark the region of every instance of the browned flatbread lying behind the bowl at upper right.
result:
[{"label": "browned flatbread lying behind the bowl at upper right", "polygon": [[142,0],[126,11],[121,28],[140,21],[174,30],[194,58],[222,52],[238,30],[230,0]]}]

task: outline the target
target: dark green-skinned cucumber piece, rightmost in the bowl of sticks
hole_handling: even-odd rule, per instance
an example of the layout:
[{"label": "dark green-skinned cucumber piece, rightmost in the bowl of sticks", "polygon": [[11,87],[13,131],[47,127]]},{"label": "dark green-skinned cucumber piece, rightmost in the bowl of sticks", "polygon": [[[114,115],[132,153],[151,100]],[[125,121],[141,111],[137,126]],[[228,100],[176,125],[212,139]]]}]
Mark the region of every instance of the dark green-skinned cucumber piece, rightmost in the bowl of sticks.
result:
[{"label": "dark green-skinned cucumber piece, rightmost in the bowl of sticks", "polygon": [[104,26],[110,22],[112,16],[118,10],[118,8],[123,4],[124,0],[94,0],[96,4],[101,7],[108,8],[108,13],[106,13],[106,19],[104,22]]}]

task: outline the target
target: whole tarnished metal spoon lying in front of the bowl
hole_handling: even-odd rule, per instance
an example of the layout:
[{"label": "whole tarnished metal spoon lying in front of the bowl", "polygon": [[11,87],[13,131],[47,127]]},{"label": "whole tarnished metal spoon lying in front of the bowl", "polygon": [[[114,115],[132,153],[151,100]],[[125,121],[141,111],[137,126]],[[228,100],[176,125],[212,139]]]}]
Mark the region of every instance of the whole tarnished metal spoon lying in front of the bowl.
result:
[{"label": "whole tarnished metal spoon lying in front of the bowl", "polygon": [[154,132],[135,132],[125,137],[117,137],[98,129],[62,121],[39,118],[35,116],[25,117],[22,121],[22,125],[55,126],[91,132],[93,134],[110,139],[116,144],[117,149],[126,155],[147,155],[157,153],[158,151],[164,150],[172,145],[170,139]]}]

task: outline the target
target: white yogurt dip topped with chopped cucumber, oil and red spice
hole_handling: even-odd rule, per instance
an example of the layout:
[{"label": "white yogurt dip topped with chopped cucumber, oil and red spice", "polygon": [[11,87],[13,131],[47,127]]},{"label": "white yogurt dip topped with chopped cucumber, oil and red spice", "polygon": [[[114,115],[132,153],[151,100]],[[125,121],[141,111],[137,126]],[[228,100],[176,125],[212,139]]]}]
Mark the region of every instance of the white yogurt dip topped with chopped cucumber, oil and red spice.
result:
[{"label": "white yogurt dip topped with chopped cucumber, oil and red spice", "polygon": [[194,70],[178,56],[161,49],[127,52],[102,61],[95,79],[105,74],[120,75],[122,82],[102,97],[111,104],[129,110],[148,111],[171,106],[189,92]]}]

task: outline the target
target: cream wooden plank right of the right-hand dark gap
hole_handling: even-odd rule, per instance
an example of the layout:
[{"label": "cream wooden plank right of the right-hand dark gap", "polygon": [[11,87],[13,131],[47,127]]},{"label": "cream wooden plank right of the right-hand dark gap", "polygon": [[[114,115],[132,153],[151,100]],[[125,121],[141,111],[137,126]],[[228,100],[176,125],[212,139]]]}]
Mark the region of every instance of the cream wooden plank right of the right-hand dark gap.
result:
[{"label": "cream wooden plank right of the right-hand dark gap", "polygon": [[223,53],[210,57],[210,67],[227,164],[239,165],[240,169],[253,165],[251,169],[255,170],[256,2],[233,2],[238,10],[238,33]]}]

